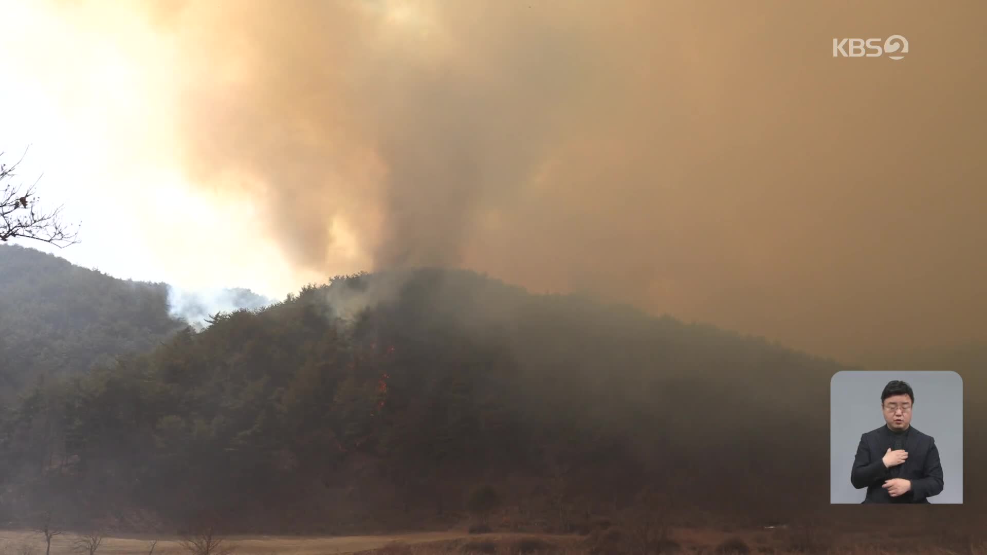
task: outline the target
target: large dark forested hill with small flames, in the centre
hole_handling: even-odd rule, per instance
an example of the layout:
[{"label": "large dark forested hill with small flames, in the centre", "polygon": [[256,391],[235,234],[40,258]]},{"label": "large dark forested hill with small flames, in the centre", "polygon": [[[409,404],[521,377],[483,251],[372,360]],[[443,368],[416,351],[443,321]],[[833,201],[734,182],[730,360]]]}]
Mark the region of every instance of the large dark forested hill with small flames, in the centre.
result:
[{"label": "large dark forested hill with small flames, in the centre", "polygon": [[805,483],[827,475],[827,399],[806,393],[838,369],[468,272],[337,278],[33,388],[0,429],[0,508],[353,531],[457,521],[491,483],[503,518],[556,529],[649,485],[777,514],[794,487],[828,499]]}]

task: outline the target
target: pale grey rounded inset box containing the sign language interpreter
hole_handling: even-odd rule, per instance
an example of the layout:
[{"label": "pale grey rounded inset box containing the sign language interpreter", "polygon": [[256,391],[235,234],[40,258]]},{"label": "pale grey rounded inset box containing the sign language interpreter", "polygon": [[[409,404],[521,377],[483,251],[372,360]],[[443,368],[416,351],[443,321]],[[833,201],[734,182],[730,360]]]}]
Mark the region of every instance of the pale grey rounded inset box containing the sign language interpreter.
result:
[{"label": "pale grey rounded inset box containing the sign language interpreter", "polygon": [[963,379],[841,371],[830,381],[831,504],[963,503]]}]

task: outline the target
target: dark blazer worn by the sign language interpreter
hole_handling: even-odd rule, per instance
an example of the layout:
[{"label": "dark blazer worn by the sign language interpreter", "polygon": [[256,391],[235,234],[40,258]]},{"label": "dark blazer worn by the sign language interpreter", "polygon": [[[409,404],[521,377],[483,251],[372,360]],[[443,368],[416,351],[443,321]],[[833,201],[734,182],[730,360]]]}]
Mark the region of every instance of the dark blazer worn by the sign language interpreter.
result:
[{"label": "dark blazer worn by the sign language interpreter", "polygon": [[[894,476],[892,469],[895,467],[886,468],[881,460],[891,446],[891,436],[886,425],[861,436],[850,482],[858,490],[867,488],[863,503],[929,503],[929,498],[943,491],[943,465],[936,440],[910,428],[905,440],[908,458],[898,465],[901,467],[897,471],[899,474]],[[910,480],[911,491],[892,498],[881,486],[885,480],[895,477]]]}]

